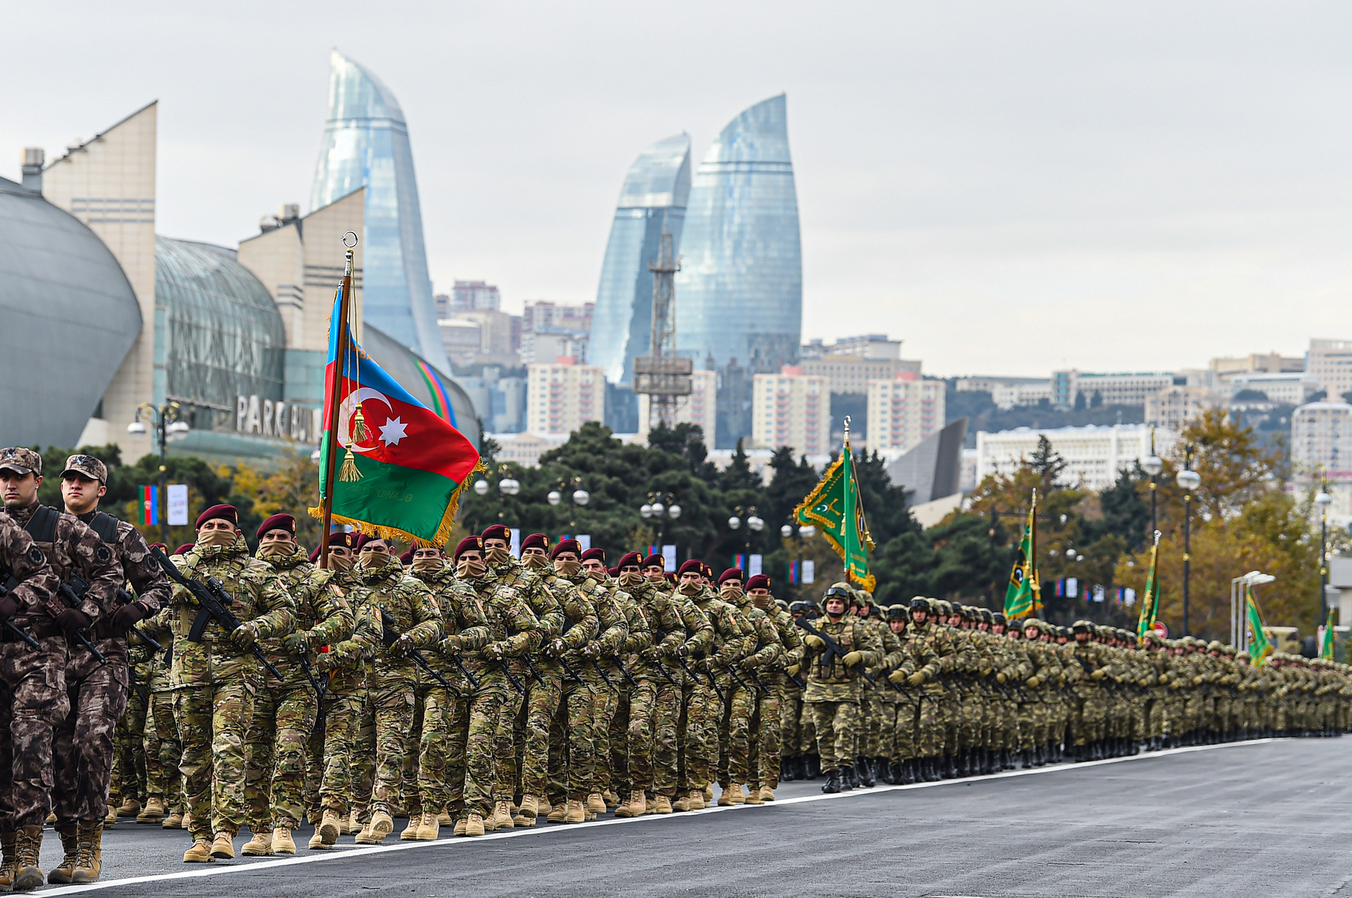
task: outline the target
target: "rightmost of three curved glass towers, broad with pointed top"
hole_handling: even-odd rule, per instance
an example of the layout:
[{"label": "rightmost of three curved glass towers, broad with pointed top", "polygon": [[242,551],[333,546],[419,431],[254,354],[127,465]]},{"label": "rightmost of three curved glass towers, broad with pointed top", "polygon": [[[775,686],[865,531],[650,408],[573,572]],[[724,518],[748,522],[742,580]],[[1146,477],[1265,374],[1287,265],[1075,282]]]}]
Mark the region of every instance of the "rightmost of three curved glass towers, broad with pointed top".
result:
[{"label": "rightmost of three curved glass towers, broad with pointed top", "polygon": [[704,154],[676,274],[676,348],[721,373],[719,446],[750,435],[750,374],[798,359],[803,263],[784,95],[733,119]]}]

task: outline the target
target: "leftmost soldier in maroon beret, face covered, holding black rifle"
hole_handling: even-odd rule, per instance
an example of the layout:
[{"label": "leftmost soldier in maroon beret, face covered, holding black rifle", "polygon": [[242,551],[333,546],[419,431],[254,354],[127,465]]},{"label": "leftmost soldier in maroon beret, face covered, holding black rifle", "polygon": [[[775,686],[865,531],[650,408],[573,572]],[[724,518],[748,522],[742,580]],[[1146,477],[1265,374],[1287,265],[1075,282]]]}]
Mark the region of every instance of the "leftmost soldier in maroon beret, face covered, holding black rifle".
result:
[{"label": "leftmost soldier in maroon beret, face covered, holding black rifle", "polygon": [[245,733],[253,720],[254,697],[264,686],[264,670],[249,652],[258,639],[295,627],[291,597],[273,570],[249,555],[233,505],[214,505],[196,521],[197,543],[176,559],[184,577],[215,578],[234,600],[239,627],[226,633],[214,620],[201,641],[188,640],[199,614],[196,600],[174,585],[173,687],[174,720],[183,739],[183,790],[192,813],[192,847],[185,863],[234,857],[234,837],[245,821]]}]

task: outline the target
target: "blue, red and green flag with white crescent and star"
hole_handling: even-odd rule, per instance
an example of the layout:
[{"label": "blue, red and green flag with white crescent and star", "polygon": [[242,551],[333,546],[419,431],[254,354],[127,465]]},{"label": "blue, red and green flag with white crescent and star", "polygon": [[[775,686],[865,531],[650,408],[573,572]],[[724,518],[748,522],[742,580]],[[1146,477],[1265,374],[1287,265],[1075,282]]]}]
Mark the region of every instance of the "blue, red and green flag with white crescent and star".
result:
[{"label": "blue, red and green flag with white crescent and star", "polygon": [[[376,365],[352,338],[350,328],[342,381],[338,396],[333,396],[341,302],[339,289],[329,324],[324,432],[319,446],[320,500],[326,498],[324,471],[330,463],[346,467],[350,459],[357,475],[335,478],[333,483],[335,524],[352,524],[362,533],[384,539],[443,546],[450,539],[460,490],[480,466],[479,451],[452,424],[454,415],[449,397],[433,369],[420,366],[433,402],[441,405],[435,411],[415,400]],[[338,402],[337,433],[329,431],[334,401]],[[356,428],[354,419],[364,427]],[[353,439],[354,431],[361,439]],[[341,456],[330,462],[334,451]],[[322,504],[310,513],[323,517]]]}]

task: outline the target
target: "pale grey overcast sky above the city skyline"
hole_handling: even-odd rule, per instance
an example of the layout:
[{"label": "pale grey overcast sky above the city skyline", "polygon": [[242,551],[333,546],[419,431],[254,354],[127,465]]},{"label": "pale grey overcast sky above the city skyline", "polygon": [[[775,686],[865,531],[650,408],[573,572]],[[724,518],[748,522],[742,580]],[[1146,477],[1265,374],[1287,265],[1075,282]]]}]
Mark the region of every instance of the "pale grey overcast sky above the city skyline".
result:
[{"label": "pale grey overcast sky above the city skyline", "polygon": [[403,105],[438,292],[595,298],[634,157],[688,131],[698,163],[784,90],[804,340],[1038,375],[1352,338],[1347,4],[66,3],[8,26],[0,174],[158,99],[169,236],[237,246],[307,207],[338,47]]}]

